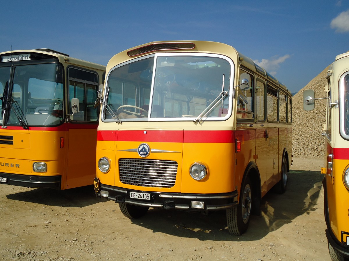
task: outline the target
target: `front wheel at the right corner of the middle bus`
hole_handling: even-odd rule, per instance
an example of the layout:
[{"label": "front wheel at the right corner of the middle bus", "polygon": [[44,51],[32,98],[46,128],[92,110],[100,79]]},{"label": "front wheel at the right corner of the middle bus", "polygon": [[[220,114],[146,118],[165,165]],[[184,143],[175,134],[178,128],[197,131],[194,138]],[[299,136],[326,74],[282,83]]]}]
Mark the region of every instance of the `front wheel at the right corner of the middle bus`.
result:
[{"label": "front wheel at the right corner of the middle bus", "polygon": [[247,176],[240,193],[239,204],[227,209],[227,224],[229,233],[241,236],[248,228],[252,207],[252,186]]}]

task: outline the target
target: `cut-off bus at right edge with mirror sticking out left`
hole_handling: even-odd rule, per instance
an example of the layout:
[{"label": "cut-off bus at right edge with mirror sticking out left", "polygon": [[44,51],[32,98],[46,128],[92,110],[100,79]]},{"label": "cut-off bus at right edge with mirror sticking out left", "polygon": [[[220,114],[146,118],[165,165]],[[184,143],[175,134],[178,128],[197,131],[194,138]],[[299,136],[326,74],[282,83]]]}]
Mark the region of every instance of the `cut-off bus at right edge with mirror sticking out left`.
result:
[{"label": "cut-off bus at right edge with mirror sticking out left", "polygon": [[336,57],[326,79],[326,97],[314,98],[314,90],[305,90],[303,104],[309,111],[315,100],[327,100],[322,133],[327,163],[321,168],[326,236],[331,259],[349,260],[349,52]]}]

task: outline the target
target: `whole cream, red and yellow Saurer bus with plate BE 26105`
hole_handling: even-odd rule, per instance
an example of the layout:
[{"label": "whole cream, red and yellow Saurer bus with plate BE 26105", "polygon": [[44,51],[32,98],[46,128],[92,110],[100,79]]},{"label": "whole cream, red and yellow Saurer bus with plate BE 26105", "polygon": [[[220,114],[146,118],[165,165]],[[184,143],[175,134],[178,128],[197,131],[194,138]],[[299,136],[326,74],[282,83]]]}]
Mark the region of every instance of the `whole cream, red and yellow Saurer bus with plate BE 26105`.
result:
[{"label": "whole cream, red and yellow Saurer bus with plate BE 26105", "polygon": [[291,165],[291,93],[233,47],[151,42],[107,64],[97,195],[131,219],[151,207],[227,213],[243,234]]}]

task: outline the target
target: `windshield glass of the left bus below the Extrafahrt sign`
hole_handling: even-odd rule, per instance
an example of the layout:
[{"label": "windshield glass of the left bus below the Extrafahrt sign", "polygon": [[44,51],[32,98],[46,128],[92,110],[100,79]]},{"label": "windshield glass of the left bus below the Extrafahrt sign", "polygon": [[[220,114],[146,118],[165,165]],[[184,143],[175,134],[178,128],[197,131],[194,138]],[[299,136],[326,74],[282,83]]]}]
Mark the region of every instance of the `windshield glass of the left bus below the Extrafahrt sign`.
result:
[{"label": "windshield glass of the left bus below the Extrafahrt sign", "polygon": [[[64,121],[63,68],[60,64],[13,66],[5,112],[8,126],[54,126]],[[9,67],[0,68],[0,82],[10,78]],[[1,87],[1,86],[0,86]],[[6,97],[4,98],[4,100]],[[5,104],[2,101],[3,105]]]}]

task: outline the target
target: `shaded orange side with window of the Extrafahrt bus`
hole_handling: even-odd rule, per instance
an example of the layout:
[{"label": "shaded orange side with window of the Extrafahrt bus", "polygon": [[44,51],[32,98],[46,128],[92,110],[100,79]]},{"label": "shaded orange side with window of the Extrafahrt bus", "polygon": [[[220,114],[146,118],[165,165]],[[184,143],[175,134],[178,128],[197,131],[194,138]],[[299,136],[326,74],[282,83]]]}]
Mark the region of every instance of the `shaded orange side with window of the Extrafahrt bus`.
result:
[{"label": "shaded orange side with window of the Extrafahrt bus", "polygon": [[[68,68],[69,77],[69,134],[66,188],[89,185],[95,176],[98,108],[98,74],[77,68]],[[72,98],[79,100],[79,112],[72,109]],[[75,100],[76,101],[76,100]],[[73,102],[74,104],[74,102]],[[62,181],[63,183],[64,181]]]}]

